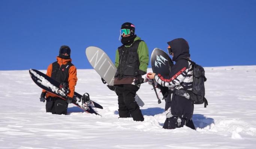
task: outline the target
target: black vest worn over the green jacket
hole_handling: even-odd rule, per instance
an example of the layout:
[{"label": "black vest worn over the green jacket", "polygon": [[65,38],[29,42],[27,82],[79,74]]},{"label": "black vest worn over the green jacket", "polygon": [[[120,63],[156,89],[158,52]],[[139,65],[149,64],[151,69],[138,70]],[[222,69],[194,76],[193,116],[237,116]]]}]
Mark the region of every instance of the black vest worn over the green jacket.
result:
[{"label": "black vest worn over the green jacket", "polygon": [[115,74],[115,78],[137,77],[140,67],[138,57],[138,45],[140,41],[136,40],[130,47],[122,45],[118,47],[119,65]]}]

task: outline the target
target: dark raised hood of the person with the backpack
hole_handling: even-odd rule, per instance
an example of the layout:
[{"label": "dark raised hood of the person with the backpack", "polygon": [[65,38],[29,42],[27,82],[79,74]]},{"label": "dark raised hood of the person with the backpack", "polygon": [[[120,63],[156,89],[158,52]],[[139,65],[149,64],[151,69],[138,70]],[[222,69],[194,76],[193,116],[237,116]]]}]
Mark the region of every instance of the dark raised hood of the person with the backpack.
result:
[{"label": "dark raised hood of the person with the backpack", "polygon": [[188,42],[183,38],[177,38],[169,41],[167,44],[170,45],[173,51],[173,61],[177,61],[181,58],[190,57]]}]

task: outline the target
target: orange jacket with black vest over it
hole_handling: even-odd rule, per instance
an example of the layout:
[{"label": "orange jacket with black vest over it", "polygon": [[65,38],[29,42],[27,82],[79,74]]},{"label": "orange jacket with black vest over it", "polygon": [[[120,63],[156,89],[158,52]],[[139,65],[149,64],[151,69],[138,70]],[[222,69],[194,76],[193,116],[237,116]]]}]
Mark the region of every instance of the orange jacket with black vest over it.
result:
[{"label": "orange jacket with black vest over it", "polygon": [[[74,90],[77,82],[77,76],[76,76],[76,67],[71,63],[71,61],[72,61],[71,59],[62,59],[57,56],[57,62],[51,63],[48,66],[46,75],[48,75],[49,77],[59,82],[67,81],[68,87],[70,90],[70,92],[68,93],[68,96],[73,98]],[[65,74],[65,71],[68,71],[67,72],[68,74]],[[58,75],[56,75],[56,73]],[[43,90],[43,92],[45,92],[45,90]],[[56,95],[47,92],[46,98],[49,96],[56,97]]]}]

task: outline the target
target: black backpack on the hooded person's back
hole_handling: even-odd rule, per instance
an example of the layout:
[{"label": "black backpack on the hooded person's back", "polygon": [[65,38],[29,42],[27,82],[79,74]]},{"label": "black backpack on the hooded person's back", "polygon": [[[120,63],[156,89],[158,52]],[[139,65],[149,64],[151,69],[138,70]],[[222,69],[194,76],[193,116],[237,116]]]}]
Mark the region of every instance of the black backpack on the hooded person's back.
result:
[{"label": "black backpack on the hooded person's back", "polygon": [[190,90],[176,90],[175,93],[177,95],[184,96],[184,93],[189,94],[189,100],[193,104],[202,104],[204,103],[204,108],[208,105],[208,102],[206,100],[205,96],[205,88],[204,88],[204,82],[207,80],[205,78],[205,71],[204,68],[200,65],[197,65],[195,62],[193,62],[189,58],[183,58],[191,62],[192,68],[193,68],[193,85],[192,85],[192,91]]}]

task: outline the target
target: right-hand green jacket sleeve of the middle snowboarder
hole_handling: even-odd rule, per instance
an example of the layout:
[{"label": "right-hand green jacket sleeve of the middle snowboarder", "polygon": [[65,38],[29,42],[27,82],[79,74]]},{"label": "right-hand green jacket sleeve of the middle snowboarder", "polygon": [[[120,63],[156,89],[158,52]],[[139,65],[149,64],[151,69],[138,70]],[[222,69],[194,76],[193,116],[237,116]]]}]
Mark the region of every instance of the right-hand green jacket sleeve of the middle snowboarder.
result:
[{"label": "right-hand green jacket sleeve of the middle snowboarder", "polygon": [[139,69],[141,71],[147,72],[147,66],[149,65],[149,49],[144,41],[141,41],[138,45],[138,56],[140,61]]}]

